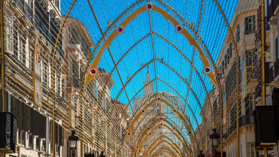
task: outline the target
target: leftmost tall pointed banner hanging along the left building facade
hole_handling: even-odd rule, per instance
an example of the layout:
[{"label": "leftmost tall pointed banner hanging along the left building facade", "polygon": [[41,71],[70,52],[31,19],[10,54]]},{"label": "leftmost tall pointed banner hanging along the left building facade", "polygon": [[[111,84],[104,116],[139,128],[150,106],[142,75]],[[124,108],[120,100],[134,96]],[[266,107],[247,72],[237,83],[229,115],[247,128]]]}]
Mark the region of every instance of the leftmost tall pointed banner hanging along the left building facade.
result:
[{"label": "leftmost tall pointed banner hanging along the left building facade", "polygon": [[33,73],[33,88],[34,88],[34,100],[36,104],[42,106],[42,66],[41,66],[41,55],[40,45],[38,38],[35,41],[34,48],[34,73]]}]

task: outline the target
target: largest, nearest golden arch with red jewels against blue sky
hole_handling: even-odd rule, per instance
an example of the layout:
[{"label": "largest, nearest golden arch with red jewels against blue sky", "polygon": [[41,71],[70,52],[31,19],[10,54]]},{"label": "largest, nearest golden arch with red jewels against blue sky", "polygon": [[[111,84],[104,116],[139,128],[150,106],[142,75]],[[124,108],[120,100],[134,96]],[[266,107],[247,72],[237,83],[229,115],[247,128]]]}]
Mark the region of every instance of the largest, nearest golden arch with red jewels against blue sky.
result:
[{"label": "largest, nearest golden arch with red jewels against blue sky", "polygon": [[[124,19],[119,25],[123,27],[123,31],[125,30],[127,24],[129,22],[131,22],[133,19],[135,19],[139,14],[148,11],[149,9],[146,8],[146,6],[142,6],[141,8],[138,8],[136,11],[134,11],[132,14],[130,14],[126,19]],[[182,25],[180,24],[174,17],[172,17],[170,14],[168,14],[166,11],[164,11],[163,9],[157,7],[156,5],[153,4],[153,8],[151,9],[151,11],[155,11],[158,12],[159,14],[161,14],[165,19],[169,20],[174,27],[178,26],[178,25]],[[122,31],[122,32],[123,32]],[[122,33],[121,32],[121,33]],[[104,41],[103,45],[100,47],[98,53],[96,54],[96,57],[93,61],[93,63],[90,66],[89,72],[87,74],[87,78],[85,80],[85,84],[84,84],[84,88],[87,86],[87,84],[89,83],[89,81],[91,81],[94,77],[96,77],[97,75],[99,75],[99,71],[98,71],[98,64],[101,60],[101,55],[103,53],[103,51],[111,45],[112,41],[115,39],[115,37],[119,34],[121,34],[120,32],[117,31],[117,28],[115,30],[112,31],[112,33],[107,37],[107,39]],[[202,51],[201,47],[199,46],[199,44],[197,43],[197,41],[195,40],[195,38],[186,30],[186,29],[182,29],[180,32],[182,35],[184,35],[186,37],[186,39],[189,41],[189,44],[194,46],[197,51],[200,54],[200,59],[201,62],[203,63],[203,67],[210,67],[210,64],[207,60],[207,57],[205,56],[204,52]],[[91,69],[95,70],[95,73],[92,74],[91,73]],[[203,74],[205,74],[207,77],[209,77],[214,84],[217,84],[216,79],[214,77],[213,71],[211,70],[209,73],[205,73],[204,71],[202,71]]]}]

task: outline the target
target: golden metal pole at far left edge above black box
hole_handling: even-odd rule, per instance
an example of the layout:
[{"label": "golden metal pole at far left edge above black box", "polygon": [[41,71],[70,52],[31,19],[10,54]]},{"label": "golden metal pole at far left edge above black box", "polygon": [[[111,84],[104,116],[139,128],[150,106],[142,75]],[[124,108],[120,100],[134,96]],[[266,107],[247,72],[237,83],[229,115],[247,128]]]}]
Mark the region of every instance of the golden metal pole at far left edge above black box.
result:
[{"label": "golden metal pole at far left edge above black box", "polygon": [[0,0],[0,45],[1,45],[1,94],[2,94],[2,111],[6,111],[5,97],[5,53],[4,53],[4,18],[3,18],[4,0]]}]

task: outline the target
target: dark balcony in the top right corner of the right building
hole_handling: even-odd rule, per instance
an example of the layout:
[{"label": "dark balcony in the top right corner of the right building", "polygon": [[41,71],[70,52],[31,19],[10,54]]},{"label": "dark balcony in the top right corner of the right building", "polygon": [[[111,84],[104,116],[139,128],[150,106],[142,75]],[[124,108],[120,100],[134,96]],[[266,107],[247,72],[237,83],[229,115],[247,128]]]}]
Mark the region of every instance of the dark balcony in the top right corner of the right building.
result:
[{"label": "dark balcony in the top right corner of the right building", "polygon": [[269,20],[269,24],[276,24],[278,18],[276,18],[279,10],[279,0],[272,0],[270,5],[267,8],[267,18]]}]

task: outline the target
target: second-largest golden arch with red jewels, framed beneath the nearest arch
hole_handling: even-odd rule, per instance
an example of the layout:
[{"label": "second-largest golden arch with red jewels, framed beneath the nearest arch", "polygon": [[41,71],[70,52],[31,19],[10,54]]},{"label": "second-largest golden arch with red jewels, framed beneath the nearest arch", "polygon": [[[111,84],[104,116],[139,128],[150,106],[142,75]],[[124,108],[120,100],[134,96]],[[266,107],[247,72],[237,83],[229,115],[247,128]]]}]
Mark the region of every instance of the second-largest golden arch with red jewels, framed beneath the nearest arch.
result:
[{"label": "second-largest golden arch with red jewels, framed beneath the nearest arch", "polygon": [[[150,101],[147,105],[145,105],[145,106],[142,108],[142,111],[146,111],[146,109],[147,109],[149,106],[151,106],[154,102],[157,102],[157,101],[162,101],[162,102],[164,102],[167,106],[169,106],[172,110],[174,110],[174,109],[177,110],[174,106],[172,106],[168,101],[164,100],[163,98],[160,98],[159,100],[158,100],[158,98],[156,98],[156,99],[153,99],[152,101]],[[142,114],[144,114],[144,112],[142,112],[142,111],[138,112],[137,116],[135,116],[134,120],[131,122],[131,125],[130,125],[130,127],[128,128],[128,131],[127,131],[127,133],[126,133],[124,142],[132,135],[131,131],[132,131],[132,129],[133,129],[134,123],[138,120],[138,118],[139,118]],[[187,125],[186,125],[186,128],[187,128],[188,131],[190,131],[191,129],[190,129],[190,127],[189,127],[189,124],[188,124],[188,122],[186,122],[186,119],[182,116],[182,114],[181,114],[179,111],[176,111],[175,113],[179,116],[179,118],[180,118],[181,120],[183,120],[183,122],[184,122],[185,124],[187,124]],[[190,134],[189,136],[192,138],[192,140],[195,140],[193,134]]]}]

